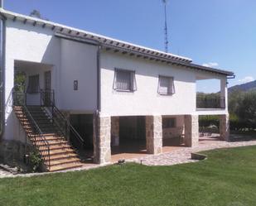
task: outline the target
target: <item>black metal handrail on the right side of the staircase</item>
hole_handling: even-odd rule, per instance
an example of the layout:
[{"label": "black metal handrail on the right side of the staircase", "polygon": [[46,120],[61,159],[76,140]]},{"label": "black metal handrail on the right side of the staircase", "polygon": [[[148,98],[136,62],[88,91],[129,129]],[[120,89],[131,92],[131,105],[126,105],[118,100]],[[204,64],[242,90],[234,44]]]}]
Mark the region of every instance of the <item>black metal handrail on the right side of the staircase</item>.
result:
[{"label": "black metal handrail on the right side of the staircase", "polygon": [[[60,112],[59,108],[56,107],[56,104],[55,104],[55,93],[54,93],[53,89],[46,89],[46,90],[41,89],[41,105],[44,105],[44,101],[45,101],[44,95],[46,94],[46,91],[48,93],[50,92],[52,94],[52,97],[50,96],[50,98],[47,99],[48,101],[50,101],[51,118],[52,118],[52,120],[54,120],[54,112],[56,111],[56,113],[62,119],[62,121],[65,122],[66,127],[70,128],[70,132],[73,132],[73,134],[75,135],[75,138],[78,141],[80,141],[80,144],[82,144],[82,146],[85,146],[85,140],[80,136],[79,132],[77,132],[75,130],[75,128],[72,126],[70,121],[65,117],[65,115],[62,112]],[[60,127],[60,125],[57,125],[57,126]],[[60,131],[61,131],[61,129],[60,129]],[[66,135],[67,134],[65,134],[65,136]]]}]

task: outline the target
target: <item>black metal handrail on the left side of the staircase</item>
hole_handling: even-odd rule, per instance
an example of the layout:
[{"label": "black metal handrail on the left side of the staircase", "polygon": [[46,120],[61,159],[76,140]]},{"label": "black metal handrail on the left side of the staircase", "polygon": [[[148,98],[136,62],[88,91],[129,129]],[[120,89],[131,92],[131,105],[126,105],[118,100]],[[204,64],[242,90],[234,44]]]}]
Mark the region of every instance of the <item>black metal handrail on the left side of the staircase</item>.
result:
[{"label": "black metal handrail on the left side of the staircase", "polygon": [[[13,91],[13,94],[15,95],[15,93],[17,93],[17,92],[15,92],[15,91]],[[19,92],[19,93],[23,93],[23,92]],[[26,95],[26,93],[23,93],[23,95],[24,95],[24,97],[25,97],[25,95]],[[24,98],[25,99],[25,98]],[[15,105],[13,105],[13,106],[15,106]],[[50,157],[50,144],[49,144],[49,142],[46,140],[46,137],[44,137],[44,134],[43,134],[43,132],[41,131],[41,128],[37,125],[37,123],[36,123],[36,121],[35,121],[35,119],[32,117],[32,115],[31,115],[31,113],[29,112],[29,110],[28,110],[28,108],[27,108],[27,106],[26,106],[26,103],[25,102],[23,102],[20,106],[22,106],[22,110],[23,110],[23,113],[25,113],[26,114],[26,116],[27,116],[27,118],[30,120],[30,122],[33,124],[33,128],[31,128],[31,129],[36,129],[36,134],[38,134],[39,135],[39,137],[41,138],[41,140],[42,140],[42,142],[43,142],[43,146],[46,146],[46,149],[47,149],[47,155],[48,155],[48,170],[50,170],[51,169],[51,157]],[[40,144],[37,144],[37,141],[36,141],[36,137],[33,137],[33,135],[31,135],[31,138],[33,138],[35,141],[34,141],[34,143],[35,143],[35,145],[36,145],[36,149],[39,151],[40,150]],[[41,152],[42,153],[42,152]],[[42,158],[42,160],[46,160],[45,158]]]}]

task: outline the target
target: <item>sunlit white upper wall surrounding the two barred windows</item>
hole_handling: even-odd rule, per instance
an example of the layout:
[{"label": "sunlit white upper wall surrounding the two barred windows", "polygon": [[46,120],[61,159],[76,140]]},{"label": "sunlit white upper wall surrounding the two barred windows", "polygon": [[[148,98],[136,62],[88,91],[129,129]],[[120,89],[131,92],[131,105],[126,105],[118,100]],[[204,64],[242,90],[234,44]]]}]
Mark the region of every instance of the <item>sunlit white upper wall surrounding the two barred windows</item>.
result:
[{"label": "sunlit white upper wall surrounding the two barred windows", "polygon": [[[213,73],[201,73],[196,69],[186,69],[107,51],[102,52],[100,65],[103,116],[195,114],[198,113],[196,79],[200,74],[202,74],[201,78],[224,78]],[[133,93],[115,91],[114,68],[135,70],[138,90]],[[158,75],[173,76],[176,93],[171,96],[158,94]],[[210,112],[219,114],[226,113],[226,110]]]}]

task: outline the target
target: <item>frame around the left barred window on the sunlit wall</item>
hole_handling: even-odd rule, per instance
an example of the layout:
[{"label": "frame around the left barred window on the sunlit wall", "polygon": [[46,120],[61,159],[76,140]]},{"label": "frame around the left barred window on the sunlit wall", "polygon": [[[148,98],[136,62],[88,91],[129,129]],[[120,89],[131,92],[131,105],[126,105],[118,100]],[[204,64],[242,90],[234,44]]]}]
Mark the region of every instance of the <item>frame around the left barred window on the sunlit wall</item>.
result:
[{"label": "frame around the left barred window on the sunlit wall", "polygon": [[[129,89],[119,89],[118,84],[117,84],[117,76],[118,72],[127,72],[130,74],[130,84],[129,84]],[[135,70],[128,70],[128,69],[119,69],[115,68],[114,69],[114,84],[113,84],[113,89],[118,92],[134,92],[137,90],[137,83],[136,83],[136,76],[135,76]]]}]

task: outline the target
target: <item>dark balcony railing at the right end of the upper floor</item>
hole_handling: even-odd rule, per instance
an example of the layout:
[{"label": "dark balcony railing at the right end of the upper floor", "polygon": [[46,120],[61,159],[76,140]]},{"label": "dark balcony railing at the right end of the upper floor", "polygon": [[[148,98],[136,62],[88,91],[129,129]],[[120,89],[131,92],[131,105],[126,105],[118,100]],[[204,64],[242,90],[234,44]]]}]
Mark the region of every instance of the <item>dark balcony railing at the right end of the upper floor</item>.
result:
[{"label": "dark balcony railing at the right end of the upper floor", "polygon": [[196,108],[225,108],[225,98],[196,97]]}]

